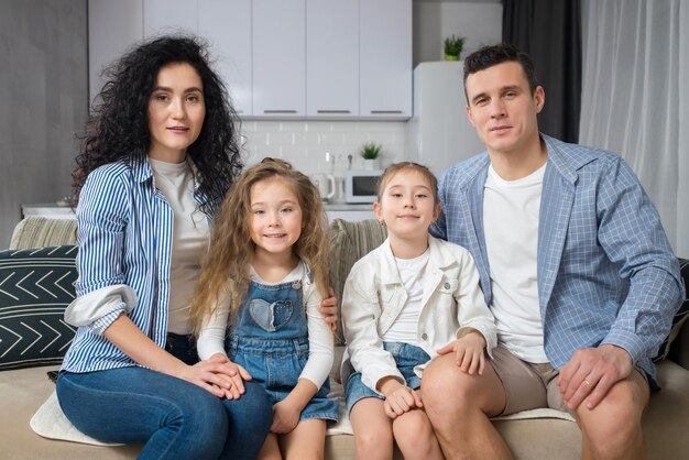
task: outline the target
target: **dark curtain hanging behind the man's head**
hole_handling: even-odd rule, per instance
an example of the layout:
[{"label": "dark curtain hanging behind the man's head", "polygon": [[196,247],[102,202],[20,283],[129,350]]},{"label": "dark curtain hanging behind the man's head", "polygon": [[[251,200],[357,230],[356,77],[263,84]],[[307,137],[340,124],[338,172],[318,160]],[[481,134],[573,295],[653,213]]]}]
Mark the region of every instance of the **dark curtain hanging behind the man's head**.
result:
[{"label": "dark curtain hanging behind the man's head", "polygon": [[502,40],[528,53],[546,92],[542,132],[578,142],[581,108],[581,0],[502,0]]}]

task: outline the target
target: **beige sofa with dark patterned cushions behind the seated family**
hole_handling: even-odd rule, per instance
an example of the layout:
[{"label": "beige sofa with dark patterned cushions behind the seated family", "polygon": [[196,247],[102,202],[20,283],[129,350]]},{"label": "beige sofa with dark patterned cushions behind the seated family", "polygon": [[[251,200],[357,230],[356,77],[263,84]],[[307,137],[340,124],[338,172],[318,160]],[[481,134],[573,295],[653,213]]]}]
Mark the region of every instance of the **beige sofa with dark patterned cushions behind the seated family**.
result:
[{"label": "beige sofa with dark patterned cushions behind the seated family", "polygon": [[[59,368],[74,328],[62,313],[74,297],[76,224],[73,220],[41,217],[19,222],[11,248],[0,251],[0,459],[132,459],[141,446],[92,446],[47,439],[36,435],[30,420],[53,393],[46,373]],[[335,219],[329,229],[331,284],[338,298],[356,260],[378,247],[385,228],[375,220]],[[682,276],[689,274],[682,261]],[[48,294],[50,293],[50,294]],[[648,459],[685,459],[689,451],[689,303],[676,315],[672,331],[658,355],[661,392],[652,397],[644,415]],[[341,328],[336,332],[341,355]],[[336,360],[337,361],[337,360]],[[332,395],[342,403],[333,365]],[[448,395],[448,397],[451,397]],[[343,408],[343,404],[340,405]],[[327,459],[353,459],[354,442],[346,414],[329,427]],[[538,409],[493,420],[516,459],[578,459],[581,434],[571,417]],[[402,456],[397,451],[396,459]]]}]

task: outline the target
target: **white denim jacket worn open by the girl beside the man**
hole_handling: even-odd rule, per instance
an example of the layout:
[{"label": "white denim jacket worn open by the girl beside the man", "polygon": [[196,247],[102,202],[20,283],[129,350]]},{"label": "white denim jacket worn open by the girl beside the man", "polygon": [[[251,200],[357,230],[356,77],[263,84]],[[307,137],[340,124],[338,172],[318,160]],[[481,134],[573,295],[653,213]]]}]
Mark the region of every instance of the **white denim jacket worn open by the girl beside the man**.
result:
[{"label": "white denim jacket worn open by the girl beside the man", "polygon": [[[485,338],[489,354],[496,344],[495,322],[479,287],[479,272],[471,254],[462,248],[428,237],[430,255],[422,280],[424,295],[417,326],[417,346],[430,359],[437,349],[470,332]],[[395,258],[385,240],[353,266],[342,294],[342,328],[347,350],[342,358],[342,382],[354,371],[376,391],[385,376],[404,379],[392,355],[383,349],[383,335],[394,324],[407,300]],[[414,372],[420,377],[428,363]],[[380,392],[379,392],[380,393]]]}]

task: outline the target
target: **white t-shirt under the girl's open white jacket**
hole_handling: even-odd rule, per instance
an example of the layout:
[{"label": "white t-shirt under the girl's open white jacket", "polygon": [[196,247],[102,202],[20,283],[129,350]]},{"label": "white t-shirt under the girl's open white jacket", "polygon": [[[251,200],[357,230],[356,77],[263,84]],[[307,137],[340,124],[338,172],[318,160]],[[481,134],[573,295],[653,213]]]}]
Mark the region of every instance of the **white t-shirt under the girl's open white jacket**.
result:
[{"label": "white t-shirt under the girl's open white jacket", "polygon": [[422,255],[414,259],[395,258],[400,278],[407,292],[407,302],[395,318],[390,329],[385,331],[382,339],[386,342],[403,342],[413,346],[418,344],[418,316],[422,313],[422,300],[424,298],[424,286],[422,276],[430,258],[430,251],[426,250]]}]

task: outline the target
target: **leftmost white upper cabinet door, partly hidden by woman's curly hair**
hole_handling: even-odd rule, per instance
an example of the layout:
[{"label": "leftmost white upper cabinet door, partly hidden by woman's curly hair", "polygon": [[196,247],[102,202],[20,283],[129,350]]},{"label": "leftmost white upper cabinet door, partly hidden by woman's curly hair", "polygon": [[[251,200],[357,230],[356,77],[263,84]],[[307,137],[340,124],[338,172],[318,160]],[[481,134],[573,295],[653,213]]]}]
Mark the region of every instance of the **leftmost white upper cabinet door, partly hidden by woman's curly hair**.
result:
[{"label": "leftmost white upper cabinet door, partly hidden by woman's curly hair", "polygon": [[88,92],[89,101],[105,83],[102,69],[143,39],[143,0],[89,0]]}]

